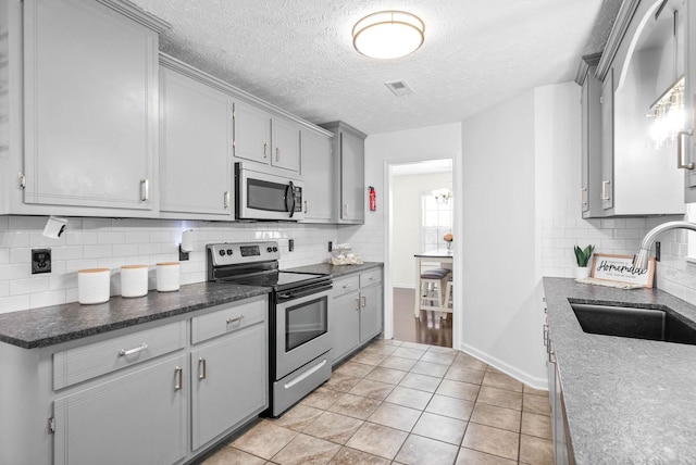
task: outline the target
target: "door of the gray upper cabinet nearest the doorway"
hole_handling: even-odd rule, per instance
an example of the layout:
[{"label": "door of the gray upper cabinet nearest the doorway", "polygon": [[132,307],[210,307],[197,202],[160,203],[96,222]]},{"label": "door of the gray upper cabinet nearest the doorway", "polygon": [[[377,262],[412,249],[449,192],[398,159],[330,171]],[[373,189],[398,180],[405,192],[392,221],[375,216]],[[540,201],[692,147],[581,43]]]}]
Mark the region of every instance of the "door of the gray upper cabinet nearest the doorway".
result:
[{"label": "door of the gray upper cabinet nearest the doorway", "polygon": [[340,131],[340,218],[362,223],[365,209],[364,141],[346,131]]}]

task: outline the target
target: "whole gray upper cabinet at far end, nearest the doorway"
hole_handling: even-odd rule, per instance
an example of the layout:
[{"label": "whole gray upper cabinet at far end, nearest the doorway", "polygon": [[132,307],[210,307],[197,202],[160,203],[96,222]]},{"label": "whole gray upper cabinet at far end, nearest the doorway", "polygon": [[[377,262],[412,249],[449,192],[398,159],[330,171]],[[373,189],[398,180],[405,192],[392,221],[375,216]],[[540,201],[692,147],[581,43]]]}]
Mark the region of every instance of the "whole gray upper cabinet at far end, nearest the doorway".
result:
[{"label": "whole gray upper cabinet at far end, nearest the doorway", "polygon": [[321,125],[334,133],[334,214],[338,224],[365,221],[365,134],[343,122]]}]

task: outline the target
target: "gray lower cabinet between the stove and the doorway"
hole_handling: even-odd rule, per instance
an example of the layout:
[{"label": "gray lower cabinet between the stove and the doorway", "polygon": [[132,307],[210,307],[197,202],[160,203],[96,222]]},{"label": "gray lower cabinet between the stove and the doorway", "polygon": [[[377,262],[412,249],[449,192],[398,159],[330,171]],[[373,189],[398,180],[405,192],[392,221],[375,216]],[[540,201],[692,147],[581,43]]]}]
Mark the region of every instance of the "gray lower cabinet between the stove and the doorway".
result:
[{"label": "gray lower cabinet between the stove and the doorway", "polygon": [[334,364],[384,328],[382,268],[334,279],[330,310]]}]

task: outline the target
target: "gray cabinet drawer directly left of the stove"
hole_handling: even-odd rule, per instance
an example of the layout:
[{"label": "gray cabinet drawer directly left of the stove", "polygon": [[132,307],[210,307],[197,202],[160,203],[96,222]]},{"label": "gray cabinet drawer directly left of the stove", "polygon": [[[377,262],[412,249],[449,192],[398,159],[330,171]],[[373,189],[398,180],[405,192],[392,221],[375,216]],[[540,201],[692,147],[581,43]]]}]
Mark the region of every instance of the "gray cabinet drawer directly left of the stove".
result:
[{"label": "gray cabinet drawer directly left of the stove", "polygon": [[216,312],[191,318],[191,343],[202,342],[265,321],[269,312],[269,301],[265,296],[241,302],[244,303],[224,306]]}]

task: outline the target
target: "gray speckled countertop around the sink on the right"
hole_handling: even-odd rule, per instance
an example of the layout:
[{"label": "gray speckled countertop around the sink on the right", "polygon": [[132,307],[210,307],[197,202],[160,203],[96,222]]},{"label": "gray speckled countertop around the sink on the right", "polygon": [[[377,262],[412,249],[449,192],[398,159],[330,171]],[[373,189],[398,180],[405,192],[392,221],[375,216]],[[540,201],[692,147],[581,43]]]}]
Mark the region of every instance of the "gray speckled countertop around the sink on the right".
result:
[{"label": "gray speckled countertop around the sink on the right", "polygon": [[696,463],[696,345],[599,336],[580,327],[576,302],[696,307],[658,289],[622,290],[544,278],[569,431],[579,464]]}]

